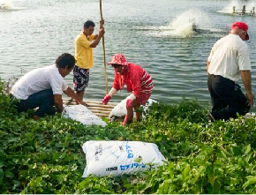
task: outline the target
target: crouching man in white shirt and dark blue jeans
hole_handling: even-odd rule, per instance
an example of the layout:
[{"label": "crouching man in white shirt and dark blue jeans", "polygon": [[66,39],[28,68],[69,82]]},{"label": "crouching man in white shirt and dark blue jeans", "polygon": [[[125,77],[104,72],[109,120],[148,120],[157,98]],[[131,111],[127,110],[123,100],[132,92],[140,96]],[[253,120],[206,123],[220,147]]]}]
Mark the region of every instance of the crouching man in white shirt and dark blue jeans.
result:
[{"label": "crouching man in white shirt and dark blue jeans", "polygon": [[27,72],[11,88],[11,96],[19,100],[18,110],[39,107],[34,113],[34,120],[41,116],[55,115],[56,111],[62,112],[64,109],[62,92],[86,105],[64,81],[74,65],[74,56],[64,53],[56,58],[56,64]]}]

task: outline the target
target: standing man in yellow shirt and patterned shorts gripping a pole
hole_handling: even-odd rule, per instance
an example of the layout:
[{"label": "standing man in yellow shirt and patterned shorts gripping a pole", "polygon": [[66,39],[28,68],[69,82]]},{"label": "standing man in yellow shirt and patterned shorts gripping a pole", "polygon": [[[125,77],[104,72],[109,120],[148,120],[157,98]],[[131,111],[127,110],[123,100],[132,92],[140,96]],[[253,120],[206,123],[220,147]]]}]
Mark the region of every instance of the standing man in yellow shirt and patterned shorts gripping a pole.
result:
[{"label": "standing man in yellow shirt and patterned shorts gripping a pole", "polygon": [[[100,21],[101,26],[104,20]],[[74,91],[83,100],[85,89],[89,82],[89,70],[94,66],[93,48],[96,48],[104,34],[104,28],[100,27],[99,34],[94,33],[94,22],[87,20],[84,24],[84,31],[75,39],[76,65],[73,70]],[[78,103],[78,102],[77,102]]]}]

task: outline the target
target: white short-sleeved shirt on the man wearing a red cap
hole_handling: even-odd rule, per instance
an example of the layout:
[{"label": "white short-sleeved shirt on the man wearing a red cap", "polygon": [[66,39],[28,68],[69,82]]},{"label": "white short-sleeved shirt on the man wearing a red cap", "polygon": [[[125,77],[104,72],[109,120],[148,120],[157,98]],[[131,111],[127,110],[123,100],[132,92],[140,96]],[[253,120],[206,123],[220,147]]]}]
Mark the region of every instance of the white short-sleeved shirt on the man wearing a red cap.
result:
[{"label": "white short-sleeved shirt on the man wearing a red cap", "polygon": [[237,34],[216,41],[210,56],[208,73],[237,81],[240,71],[251,71],[248,46]]}]

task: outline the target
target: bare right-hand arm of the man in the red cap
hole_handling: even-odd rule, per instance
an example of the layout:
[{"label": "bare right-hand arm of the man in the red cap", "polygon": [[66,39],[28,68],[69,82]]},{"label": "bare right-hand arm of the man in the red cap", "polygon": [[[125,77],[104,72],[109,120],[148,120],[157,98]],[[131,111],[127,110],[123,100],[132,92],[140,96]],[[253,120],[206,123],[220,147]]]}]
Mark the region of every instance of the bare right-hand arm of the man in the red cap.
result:
[{"label": "bare right-hand arm of the man in the red cap", "polygon": [[249,101],[249,104],[253,106],[251,71],[240,71],[240,73],[241,73],[241,79],[245,86],[247,100]]}]

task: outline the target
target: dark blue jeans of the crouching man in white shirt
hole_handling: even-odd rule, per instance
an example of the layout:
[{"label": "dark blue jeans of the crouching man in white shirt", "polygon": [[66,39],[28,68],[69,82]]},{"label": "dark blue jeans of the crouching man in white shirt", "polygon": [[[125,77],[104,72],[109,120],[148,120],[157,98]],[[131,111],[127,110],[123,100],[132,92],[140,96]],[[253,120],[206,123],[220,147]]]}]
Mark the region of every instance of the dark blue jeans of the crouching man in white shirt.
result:
[{"label": "dark blue jeans of the crouching man in white shirt", "polygon": [[51,89],[32,94],[26,100],[20,100],[17,107],[19,111],[39,107],[34,113],[35,116],[55,115],[56,113]]}]

